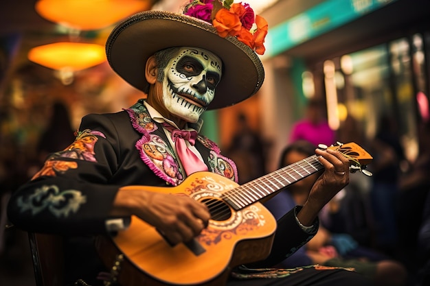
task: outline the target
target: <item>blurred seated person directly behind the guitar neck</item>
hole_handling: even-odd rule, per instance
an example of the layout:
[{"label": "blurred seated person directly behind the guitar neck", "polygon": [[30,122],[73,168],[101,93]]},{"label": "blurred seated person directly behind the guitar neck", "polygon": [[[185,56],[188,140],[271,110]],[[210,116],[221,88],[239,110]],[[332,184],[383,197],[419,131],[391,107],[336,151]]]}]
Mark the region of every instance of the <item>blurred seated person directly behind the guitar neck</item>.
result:
[{"label": "blurred seated person directly behind the guitar neck", "polygon": [[[308,141],[295,141],[282,151],[279,168],[313,156],[315,148],[316,146]],[[308,200],[309,191],[320,172],[291,184],[281,193],[275,195],[274,198],[265,202],[264,205],[275,217],[282,217],[293,206],[302,205]],[[293,268],[315,263],[327,266],[352,267],[369,278],[372,285],[375,286],[401,286],[405,285],[407,278],[407,272],[401,263],[389,259],[385,254],[376,250],[359,245],[347,233],[330,233],[324,225],[320,225],[315,237],[291,257],[282,261],[279,267]]]}]

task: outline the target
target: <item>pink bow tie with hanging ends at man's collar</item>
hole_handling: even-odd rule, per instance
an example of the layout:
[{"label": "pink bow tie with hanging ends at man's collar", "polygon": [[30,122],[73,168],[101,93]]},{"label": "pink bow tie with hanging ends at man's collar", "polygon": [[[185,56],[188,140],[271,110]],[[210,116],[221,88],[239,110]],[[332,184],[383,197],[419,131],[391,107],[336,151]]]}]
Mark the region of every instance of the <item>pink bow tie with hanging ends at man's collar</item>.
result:
[{"label": "pink bow tie with hanging ends at man's collar", "polygon": [[196,171],[207,171],[207,166],[194,152],[187,147],[185,140],[194,146],[197,138],[196,130],[179,130],[168,123],[163,123],[164,128],[172,133],[172,141],[177,150],[179,159],[181,160],[183,169],[187,176]]}]

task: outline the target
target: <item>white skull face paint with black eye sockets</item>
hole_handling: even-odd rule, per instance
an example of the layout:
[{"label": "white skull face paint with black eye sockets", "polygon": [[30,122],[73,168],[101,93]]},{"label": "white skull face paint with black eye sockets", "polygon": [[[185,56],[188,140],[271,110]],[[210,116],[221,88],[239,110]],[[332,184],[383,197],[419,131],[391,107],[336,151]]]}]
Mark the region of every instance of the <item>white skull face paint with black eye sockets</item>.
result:
[{"label": "white skull face paint with black eye sockets", "polygon": [[215,96],[222,63],[205,49],[184,47],[164,70],[163,103],[177,117],[196,122]]}]

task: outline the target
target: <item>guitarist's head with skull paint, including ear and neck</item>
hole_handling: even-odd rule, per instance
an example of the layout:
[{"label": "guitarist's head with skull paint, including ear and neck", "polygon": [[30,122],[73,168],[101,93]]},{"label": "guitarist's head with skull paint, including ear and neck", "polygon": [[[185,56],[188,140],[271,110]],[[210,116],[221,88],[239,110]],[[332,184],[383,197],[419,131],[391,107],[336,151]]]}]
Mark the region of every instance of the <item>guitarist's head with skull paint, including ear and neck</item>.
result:
[{"label": "guitarist's head with skull paint, including ear and neck", "polygon": [[[214,99],[222,63],[214,53],[199,48],[170,51],[174,53],[164,69],[157,67],[157,56],[146,64],[148,82],[153,88],[162,88],[162,93],[150,90],[147,102],[181,129],[187,122],[196,123]],[[166,51],[160,53],[158,58],[166,55]]]}]

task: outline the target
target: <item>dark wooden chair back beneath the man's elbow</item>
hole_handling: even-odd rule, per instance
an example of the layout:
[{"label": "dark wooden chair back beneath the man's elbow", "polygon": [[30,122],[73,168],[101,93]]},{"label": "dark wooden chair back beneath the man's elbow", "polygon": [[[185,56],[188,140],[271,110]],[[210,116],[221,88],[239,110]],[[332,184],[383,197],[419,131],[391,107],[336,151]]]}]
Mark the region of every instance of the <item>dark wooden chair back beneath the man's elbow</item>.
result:
[{"label": "dark wooden chair back beneath the man's elbow", "polygon": [[28,233],[36,286],[64,286],[63,239],[58,235]]}]

